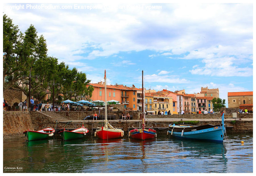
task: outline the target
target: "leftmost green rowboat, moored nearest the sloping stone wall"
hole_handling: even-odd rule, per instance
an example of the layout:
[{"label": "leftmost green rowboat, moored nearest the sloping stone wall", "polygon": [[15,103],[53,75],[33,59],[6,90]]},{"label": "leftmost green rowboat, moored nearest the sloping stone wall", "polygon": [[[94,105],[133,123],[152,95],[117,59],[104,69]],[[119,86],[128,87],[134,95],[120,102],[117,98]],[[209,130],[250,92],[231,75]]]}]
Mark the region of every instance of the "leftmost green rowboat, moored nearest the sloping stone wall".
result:
[{"label": "leftmost green rowboat, moored nearest the sloping stone wall", "polygon": [[55,130],[53,128],[46,128],[38,131],[27,130],[27,131],[24,131],[23,134],[25,134],[26,139],[30,141],[30,140],[40,140],[40,139],[49,138],[53,136],[54,132]]}]

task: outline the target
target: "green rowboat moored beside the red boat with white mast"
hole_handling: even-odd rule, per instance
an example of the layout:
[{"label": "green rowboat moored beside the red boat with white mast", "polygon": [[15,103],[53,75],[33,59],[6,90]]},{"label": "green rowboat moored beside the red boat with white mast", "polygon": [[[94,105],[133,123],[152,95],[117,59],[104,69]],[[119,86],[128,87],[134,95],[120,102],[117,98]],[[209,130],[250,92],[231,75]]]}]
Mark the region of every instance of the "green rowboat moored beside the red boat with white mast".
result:
[{"label": "green rowboat moored beside the red boat with white mast", "polygon": [[83,138],[84,135],[86,135],[86,133],[88,133],[89,130],[87,128],[84,127],[84,124],[81,128],[72,130],[72,131],[68,131],[68,130],[63,130],[60,131],[59,134],[61,135],[61,137],[64,140],[72,140],[72,139],[80,139]]}]

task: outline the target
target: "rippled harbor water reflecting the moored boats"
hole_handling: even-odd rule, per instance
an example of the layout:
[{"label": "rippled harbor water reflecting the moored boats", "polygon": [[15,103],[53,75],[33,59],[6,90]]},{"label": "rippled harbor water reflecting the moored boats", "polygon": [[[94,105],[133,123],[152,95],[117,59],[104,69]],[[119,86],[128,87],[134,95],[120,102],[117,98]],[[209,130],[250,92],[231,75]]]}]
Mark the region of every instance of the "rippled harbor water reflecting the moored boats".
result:
[{"label": "rippled harbor water reflecting the moored boats", "polygon": [[[86,136],[3,141],[4,173],[252,173],[253,134],[228,134],[222,143],[156,139],[99,140]],[[241,144],[241,141],[244,141]]]}]

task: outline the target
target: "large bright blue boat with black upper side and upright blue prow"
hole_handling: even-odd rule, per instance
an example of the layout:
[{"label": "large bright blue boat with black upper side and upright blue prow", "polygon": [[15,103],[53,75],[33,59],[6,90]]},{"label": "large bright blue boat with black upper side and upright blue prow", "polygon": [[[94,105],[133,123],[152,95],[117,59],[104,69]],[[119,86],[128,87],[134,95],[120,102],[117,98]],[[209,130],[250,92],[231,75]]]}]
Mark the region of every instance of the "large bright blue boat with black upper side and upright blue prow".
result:
[{"label": "large bright blue boat with black upper side and upright blue prow", "polygon": [[222,124],[220,125],[187,125],[187,124],[170,124],[167,134],[177,138],[204,140],[212,142],[223,142],[226,128],[224,124],[224,113],[222,113]]}]

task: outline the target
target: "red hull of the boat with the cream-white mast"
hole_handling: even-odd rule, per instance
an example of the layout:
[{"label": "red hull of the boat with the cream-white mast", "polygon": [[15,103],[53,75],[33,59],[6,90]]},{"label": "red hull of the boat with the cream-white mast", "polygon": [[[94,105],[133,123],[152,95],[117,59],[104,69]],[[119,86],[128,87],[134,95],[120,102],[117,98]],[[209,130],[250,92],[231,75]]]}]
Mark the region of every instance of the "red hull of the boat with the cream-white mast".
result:
[{"label": "red hull of the boat with the cream-white mast", "polygon": [[99,130],[96,130],[96,134],[100,139],[115,139],[115,138],[123,137],[122,130],[115,131],[112,129],[99,129]]}]

